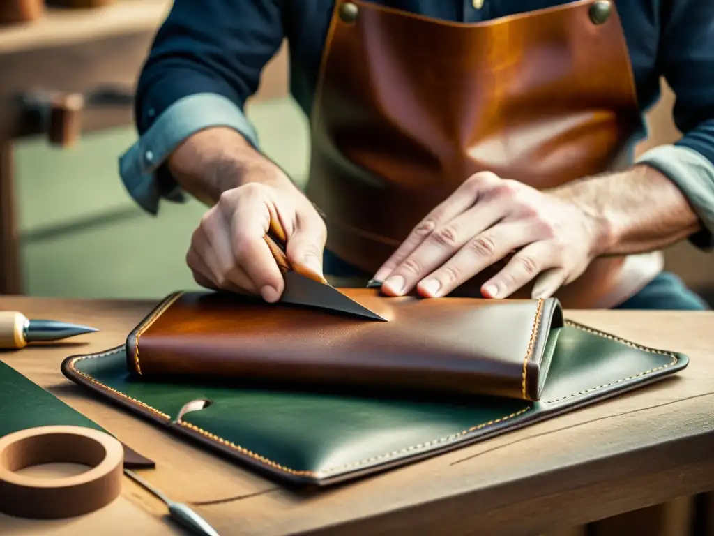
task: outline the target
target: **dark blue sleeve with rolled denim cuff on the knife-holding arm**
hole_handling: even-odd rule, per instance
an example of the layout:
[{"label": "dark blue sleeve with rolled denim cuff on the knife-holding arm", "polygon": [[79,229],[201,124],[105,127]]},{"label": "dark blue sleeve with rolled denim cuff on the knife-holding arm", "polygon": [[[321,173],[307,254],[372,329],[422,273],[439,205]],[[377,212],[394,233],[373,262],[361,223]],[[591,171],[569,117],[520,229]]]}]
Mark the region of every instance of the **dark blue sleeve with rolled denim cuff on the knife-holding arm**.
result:
[{"label": "dark blue sleeve with rolled denim cuff on the knife-holding arm", "polygon": [[119,158],[122,182],[146,211],[183,201],[166,160],[192,134],[227,126],[258,147],[243,110],[283,40],[281,1],[174,0],[139,76],[139,140]]}]

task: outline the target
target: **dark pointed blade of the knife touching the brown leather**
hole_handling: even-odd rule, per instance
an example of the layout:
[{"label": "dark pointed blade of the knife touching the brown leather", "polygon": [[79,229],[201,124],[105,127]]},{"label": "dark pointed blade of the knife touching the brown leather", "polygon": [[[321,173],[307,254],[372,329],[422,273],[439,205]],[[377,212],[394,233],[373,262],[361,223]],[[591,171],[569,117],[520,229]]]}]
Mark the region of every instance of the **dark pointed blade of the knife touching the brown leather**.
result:
[{"label": "dark pointed blade of the knife touching the brown leather", "polygon": [[308,305],[320,309],[351,314],[356,317],[368,318],[371,320],[381,320],[386,322],[376,313],[371,312],[366,307],[346,297],[335,287],[328,284],[318,283],[298,272],[286,272],[285,290],[281,302]]}]

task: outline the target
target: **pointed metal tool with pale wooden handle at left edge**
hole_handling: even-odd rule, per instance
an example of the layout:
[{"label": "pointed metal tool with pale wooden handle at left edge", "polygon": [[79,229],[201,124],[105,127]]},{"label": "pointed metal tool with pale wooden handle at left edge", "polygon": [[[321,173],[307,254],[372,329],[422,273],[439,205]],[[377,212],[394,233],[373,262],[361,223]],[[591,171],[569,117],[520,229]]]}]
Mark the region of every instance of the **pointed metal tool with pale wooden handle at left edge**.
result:
[{"label": "pointed metal tool with pale wooden handle at left edge", "polygon": [[31,320],[17,311],[0,311],[0,349],[20,349],[31,342],[67,339],[99,329],[56,320]]}]

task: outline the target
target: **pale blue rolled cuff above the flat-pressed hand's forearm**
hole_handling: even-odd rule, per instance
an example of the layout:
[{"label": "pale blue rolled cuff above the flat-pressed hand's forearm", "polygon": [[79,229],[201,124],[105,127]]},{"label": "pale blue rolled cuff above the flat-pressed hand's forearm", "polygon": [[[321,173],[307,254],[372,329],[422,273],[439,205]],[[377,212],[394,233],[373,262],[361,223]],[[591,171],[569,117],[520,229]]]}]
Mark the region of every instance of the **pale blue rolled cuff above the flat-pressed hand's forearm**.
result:
[{"label": "pale blue rolled cuff above the flat-pressed hand's forearm", "polygon": [[714,233],[714,164],[689,147],[662,145],[645,152],[648,164],[674,182],[709,232]]}]

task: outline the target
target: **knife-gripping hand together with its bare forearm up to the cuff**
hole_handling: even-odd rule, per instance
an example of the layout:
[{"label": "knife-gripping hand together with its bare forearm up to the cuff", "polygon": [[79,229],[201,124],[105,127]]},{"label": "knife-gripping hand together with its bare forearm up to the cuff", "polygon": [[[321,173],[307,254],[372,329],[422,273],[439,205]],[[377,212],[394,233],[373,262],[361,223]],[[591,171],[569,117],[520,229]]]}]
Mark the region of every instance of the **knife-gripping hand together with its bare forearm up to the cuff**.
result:
[{"label": "knife-gripping hand together with its bare forearm up to the cuff", "polygon": [[177,149],[170,166],[184,188],[213,204],[193,232],[186,255],[198,284],[276,302],[284,280],[264,240],[271,219],[285,232],[293,267],[323,279],[322,218],[286,174],[236,132],[195,134]]}]

